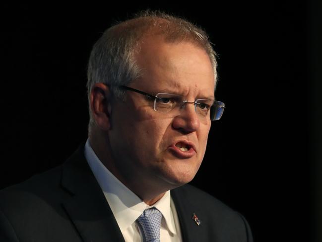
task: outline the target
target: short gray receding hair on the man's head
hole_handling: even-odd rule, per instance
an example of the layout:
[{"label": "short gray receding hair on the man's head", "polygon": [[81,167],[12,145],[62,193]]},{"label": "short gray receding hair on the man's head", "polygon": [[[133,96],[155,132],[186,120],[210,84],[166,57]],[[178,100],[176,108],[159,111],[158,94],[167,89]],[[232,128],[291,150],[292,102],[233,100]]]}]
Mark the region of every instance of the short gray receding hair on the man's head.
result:
[{"label": "short gray receding hair on the man's head", "polygon": [[[120,85],[140,76],[134,58],[140,51],[140,43],[147,36],[161,36],[165,42],[187,41],[204,49],[209,56],[217,80],[216,53],[207,34],[193,23],[164,12],[146,10],[134,18],[108,28],[94,44],[87,70],[88,100],[95,83],[107,84],[112,94],[121,97]],[[89,128],[94,124],[89,110]]]}]

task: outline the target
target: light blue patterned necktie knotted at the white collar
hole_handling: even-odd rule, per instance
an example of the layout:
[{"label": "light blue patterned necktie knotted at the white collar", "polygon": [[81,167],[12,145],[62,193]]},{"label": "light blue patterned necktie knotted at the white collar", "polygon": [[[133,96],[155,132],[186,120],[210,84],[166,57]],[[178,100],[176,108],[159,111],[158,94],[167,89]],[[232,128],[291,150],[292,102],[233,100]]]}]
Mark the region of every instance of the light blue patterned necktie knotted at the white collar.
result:
[{"label": "light blue patterned necktie knotted at the white collar", "polygon": [[160,242],[160,226],[162,214],[156,208],[145,209],[136,220],[144,242]]}]

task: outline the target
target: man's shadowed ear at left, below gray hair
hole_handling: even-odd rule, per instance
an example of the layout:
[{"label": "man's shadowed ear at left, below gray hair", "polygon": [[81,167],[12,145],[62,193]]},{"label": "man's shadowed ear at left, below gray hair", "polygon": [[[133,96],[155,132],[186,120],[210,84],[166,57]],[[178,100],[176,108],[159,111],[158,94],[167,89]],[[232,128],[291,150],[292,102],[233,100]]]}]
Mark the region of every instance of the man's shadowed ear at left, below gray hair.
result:
[{"label": "man's shadowed ear at left, below gray hair", "polygon": [[90,93],[90,110],[97,126],[102,130],[111,129],[111,91],[103,83],[95,83]]}]

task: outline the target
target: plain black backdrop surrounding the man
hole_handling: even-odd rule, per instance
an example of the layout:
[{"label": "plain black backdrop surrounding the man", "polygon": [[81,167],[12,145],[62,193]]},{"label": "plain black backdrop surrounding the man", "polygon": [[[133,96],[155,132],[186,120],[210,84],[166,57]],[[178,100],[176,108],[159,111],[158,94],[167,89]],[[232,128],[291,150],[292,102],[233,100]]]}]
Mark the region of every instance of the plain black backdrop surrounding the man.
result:
[{"label": "plain black backdrop surrounding the man", "polygon": [[219,55],[216,97],[227,108],[192,183],[244,214],[255,241],[318,241],[318,1],[2,5],[0,188],[86,140],[91,47],[147,7],[202,26]]}]

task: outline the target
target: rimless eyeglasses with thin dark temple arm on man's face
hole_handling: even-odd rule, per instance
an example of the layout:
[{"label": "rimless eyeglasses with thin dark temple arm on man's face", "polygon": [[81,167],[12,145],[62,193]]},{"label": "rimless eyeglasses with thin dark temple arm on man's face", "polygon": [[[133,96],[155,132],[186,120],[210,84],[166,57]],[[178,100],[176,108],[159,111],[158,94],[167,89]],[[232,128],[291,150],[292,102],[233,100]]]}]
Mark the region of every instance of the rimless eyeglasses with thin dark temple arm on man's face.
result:
[{"label": "rimless eyeglasses with thin dark temple arm on man's face", "polygon": [[167,113],[170,116],[180,115],[185,105],[189,103],[194,104],[194,110],[202,120],[219,120],[225,109],[223,102],[211,99],[196,99],[194,102],[189,102],[188,100],[184,100],[184,96],[181,95],[170,93],[157,93],[156,95],[152,95],[124,85],[119,86],[119,88],[134,91],[154,99],[153,109],[158,112]]}]

